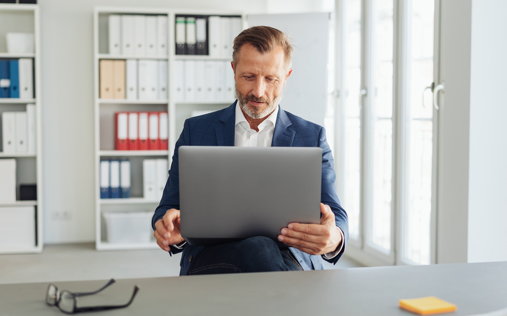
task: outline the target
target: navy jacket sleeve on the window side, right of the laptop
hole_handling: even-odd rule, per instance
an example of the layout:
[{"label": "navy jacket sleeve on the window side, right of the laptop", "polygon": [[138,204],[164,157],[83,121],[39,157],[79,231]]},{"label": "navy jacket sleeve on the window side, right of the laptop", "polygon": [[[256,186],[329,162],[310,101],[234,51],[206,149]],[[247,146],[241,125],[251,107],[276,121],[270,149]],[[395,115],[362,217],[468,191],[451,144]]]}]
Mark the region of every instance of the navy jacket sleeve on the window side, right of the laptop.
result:
[{"label": "navy jacket sleeve on the window side, right of the laptop", "polygon": [[343,247],[338,255],[331,259],[322,258],[328,262],[336,264],[345,251],[345,246],[348,242],[348,217],[347,212],[345,212],[340,205],[340,200],[338,199],[338,195],[336,193],[336,172],[333,154],[331,153],[331,148],[329,147],[328,141],[325,137],[325,129],[323,127],[320,129],[318,146],[322,149],[322,183],[320,201],[331,207],[331,210],[335,213],[336,225],[342,230],[344,236]]}]

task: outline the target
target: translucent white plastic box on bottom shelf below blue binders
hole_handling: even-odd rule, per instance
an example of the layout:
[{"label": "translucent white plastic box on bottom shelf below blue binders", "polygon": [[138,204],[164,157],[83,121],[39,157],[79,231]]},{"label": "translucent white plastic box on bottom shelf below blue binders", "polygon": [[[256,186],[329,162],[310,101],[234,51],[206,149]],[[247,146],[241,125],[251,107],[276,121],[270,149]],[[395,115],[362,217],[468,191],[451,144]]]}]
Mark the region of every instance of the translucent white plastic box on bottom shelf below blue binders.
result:
[{"label": "translucent white plastic box on bottom shelf below blue binders", "polygon": [[152,212],[103,212],[107,242],[149,243],[152,240]]}]

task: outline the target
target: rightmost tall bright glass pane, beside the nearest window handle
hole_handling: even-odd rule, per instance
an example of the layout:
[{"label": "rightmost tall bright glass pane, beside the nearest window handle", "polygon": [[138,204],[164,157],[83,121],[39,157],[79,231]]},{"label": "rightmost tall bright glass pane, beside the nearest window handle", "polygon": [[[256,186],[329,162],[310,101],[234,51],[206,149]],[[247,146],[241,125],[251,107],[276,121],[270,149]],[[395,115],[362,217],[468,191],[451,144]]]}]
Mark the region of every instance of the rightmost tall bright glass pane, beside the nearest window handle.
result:
[{"label": "rightmost tall bright glass pane, beside the nearest window handle", "polygon": [[410,122],[407,146],[407,205],[403,210],[403,257],[418,264],[430,263],[430,214],[432,171],[432,104],[428,92],[423,104],[423,91],[433,82],[433,9],[434,1],[412,0],[411,56],[409,55],[408,111]]}]

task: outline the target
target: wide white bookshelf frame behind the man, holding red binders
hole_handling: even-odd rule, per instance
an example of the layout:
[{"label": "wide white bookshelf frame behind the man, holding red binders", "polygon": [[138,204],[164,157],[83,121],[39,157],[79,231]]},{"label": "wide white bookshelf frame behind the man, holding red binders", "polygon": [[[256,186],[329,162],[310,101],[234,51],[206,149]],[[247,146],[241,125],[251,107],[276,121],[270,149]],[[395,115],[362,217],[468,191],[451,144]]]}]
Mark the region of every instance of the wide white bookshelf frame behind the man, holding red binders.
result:
[{"label": "wide white bookshelf frame behind the man, holding red binders", "polygon": [[[112,14],[126,15],[165,15],[167,16],[167,51],[164,56],[132,56],[109,54],[108,43],[108,16]],[[153,158],[167,158],[169,166],[172,153],[179,133],[182,131],[184,120],[191,116],[193,110],[219,110],[229,106],[230,102],[201,101],[185,102],[176,101],[175,82],[178,78],[174,74],[174,63],[176,61],[231,61],[228,58],[210,57],[208,55],[176,55],[175,54],[175,18],[177,15],[221,15],[241,17],[244,24],[243,14],[235,12],[213,12],[196,10],[171,10],[171,9],[142,9],[124,7],[96,7],[94,10],[94,90],[95,90],[95,219],[96,219],[96,248],[98,250],[120,250],[120,249],[152,249],[158,248],[155,240],[150,243],[109,243],[104,234],[105,224],[103,212],[105,211],[136,211],[150,209],[152,212],[158,206],[158,200],[144,199],[142,196],[142,160]],[[166,60],[168,64],[167,76],[167,100],[125,100],[125,99],[101,99],[99,98],[99,61],[100,60],[126,60],[126,59],[147,59]],[[232,70],[231,70],[232,75]],[[139,151],[117,151],[114,148],[114,127],[104,123],[104,117],[114,126],[114,113],[119,111],[167,111],[168,112],[168,150],[139,150]],[[100,199],[99,186],[99,163],[101,159],[128,158],[131,161],[131,198],[127,199]],[[167,172],[168,170],[166,170]],[[151,221],[146,225],[151,229]]]}]

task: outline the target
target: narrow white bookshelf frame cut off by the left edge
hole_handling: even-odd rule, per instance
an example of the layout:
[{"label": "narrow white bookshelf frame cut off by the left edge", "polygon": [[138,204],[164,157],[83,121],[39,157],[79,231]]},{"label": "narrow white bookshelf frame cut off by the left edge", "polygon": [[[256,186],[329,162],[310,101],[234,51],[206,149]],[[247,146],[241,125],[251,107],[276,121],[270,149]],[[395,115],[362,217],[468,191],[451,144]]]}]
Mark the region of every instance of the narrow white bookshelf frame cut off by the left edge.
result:
[{"label": "narrow white bookshelf frame cut off by the left edge", "polygon": [[[34,95],[32,99],[0,98],[0,114],[6,111],[25,111],[26,104],[35,104],[35,152],[34,153],[3,153],[0,159],[16,159],[16,201],[13,203],[0,203],[0,207],[26,207],[33,206],[33,227],[19,228],[19,233],[33,230],[35,240],[33,245],[5,247],[0,246],[0,254],[7,253],[40,253],[43,249],[43,188],[42,188],[42,104],[41,104],[41,43],[40,43],[40,13],[38,5],[31,4],[0,4],[0,58],[19,59],[31,58],[33,60]],[[23,32],[34,34],[34,53],[7,53],[5,36],[9,32]],[[0,130],[0,135],[2,130]],[[2,137],[0,136],[0,142]],[[19,186],[21,184],[37,185],[36,201],[19,200]],[[0,227],[2,218],[0,218]],[[0,228],[1,229],[1,228]]]}]

